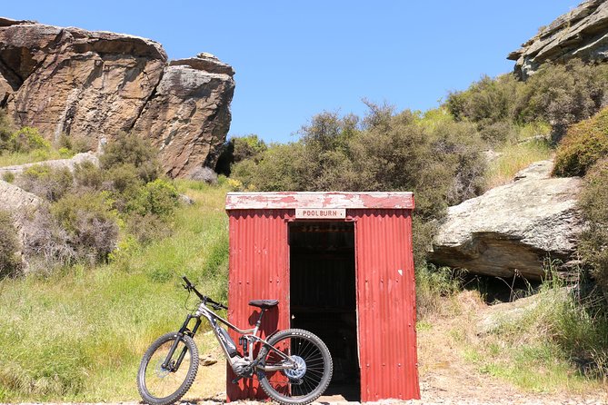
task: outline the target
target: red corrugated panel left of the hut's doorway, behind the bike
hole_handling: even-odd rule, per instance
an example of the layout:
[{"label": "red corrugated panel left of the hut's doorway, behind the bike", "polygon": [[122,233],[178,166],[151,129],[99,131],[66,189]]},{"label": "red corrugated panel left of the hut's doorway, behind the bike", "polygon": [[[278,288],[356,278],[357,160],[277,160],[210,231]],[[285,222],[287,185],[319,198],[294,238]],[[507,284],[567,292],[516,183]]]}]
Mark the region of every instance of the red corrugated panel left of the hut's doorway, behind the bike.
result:
[{"label": "red corrugated panel left of the hut's doorway, behind the bike", "polygon": [[[240,328],[257,320],[259,310],[247,303],[255,299],[279,300],[278,308],[267,311],[262,323],[262,337],[277,329],[289,328],[289,272],[285,210],[237,210],[230,216],[230,274],[228,277],[228,321]],[[231,333],[238,343],[237,335]],[[228,400],[264,399],[257,379],[231,381],[234,374],[228,366],[226,394]]]}]

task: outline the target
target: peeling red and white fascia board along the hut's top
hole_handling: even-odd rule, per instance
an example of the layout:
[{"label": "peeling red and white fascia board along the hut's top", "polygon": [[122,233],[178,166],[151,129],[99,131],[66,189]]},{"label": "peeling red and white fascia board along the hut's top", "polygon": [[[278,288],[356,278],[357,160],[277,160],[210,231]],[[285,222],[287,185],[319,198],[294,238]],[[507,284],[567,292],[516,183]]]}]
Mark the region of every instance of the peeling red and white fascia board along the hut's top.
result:
[{"label": "peeling red and white fascia board along the hut's top", "polygon": [[296,208],[414,209],[414,194],[374,193],[228,193],[226,210]]}]

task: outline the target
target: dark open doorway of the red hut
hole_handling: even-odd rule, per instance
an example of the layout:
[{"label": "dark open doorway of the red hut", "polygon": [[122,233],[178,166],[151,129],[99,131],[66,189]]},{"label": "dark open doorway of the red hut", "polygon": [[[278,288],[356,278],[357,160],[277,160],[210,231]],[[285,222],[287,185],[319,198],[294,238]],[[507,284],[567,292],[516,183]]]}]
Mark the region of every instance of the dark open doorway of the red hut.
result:
[{"label": "dark open doorway of the red hut", "polygon": [[291,222],[291,326],[312,331],[332,353],[324,395],[360,400],[354,222]]}]

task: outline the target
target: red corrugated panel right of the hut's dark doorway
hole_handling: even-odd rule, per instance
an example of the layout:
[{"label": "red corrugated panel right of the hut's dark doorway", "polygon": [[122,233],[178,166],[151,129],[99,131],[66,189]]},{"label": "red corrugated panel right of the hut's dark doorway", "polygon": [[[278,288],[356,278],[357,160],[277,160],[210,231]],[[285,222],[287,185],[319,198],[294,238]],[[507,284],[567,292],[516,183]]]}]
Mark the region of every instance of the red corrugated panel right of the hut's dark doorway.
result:
[{"label": "red corrugated panel right of the hut's dark doorway", "polygon": [[411,211],[352,214],[361,401],[420,399]]}]

